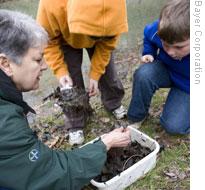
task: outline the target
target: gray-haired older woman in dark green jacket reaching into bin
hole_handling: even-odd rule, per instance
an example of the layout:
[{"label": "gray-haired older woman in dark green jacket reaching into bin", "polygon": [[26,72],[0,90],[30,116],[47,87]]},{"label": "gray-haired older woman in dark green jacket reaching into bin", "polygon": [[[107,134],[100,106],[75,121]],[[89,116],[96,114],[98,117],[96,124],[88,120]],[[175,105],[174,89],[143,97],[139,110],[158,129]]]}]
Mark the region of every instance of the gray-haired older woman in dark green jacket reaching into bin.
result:
[{"label": "gray-haired older woman in dark green jacket reaching into bin", "polygon": [[0,10],[0,186],[8,189],[81,189],[98,175],[111,147],[130,142],[129,130],[116,129],[73,151],[55,151],[29,128],[34,112],[22,92],[39,87],[47,69],[47,33],[32,18]]}]

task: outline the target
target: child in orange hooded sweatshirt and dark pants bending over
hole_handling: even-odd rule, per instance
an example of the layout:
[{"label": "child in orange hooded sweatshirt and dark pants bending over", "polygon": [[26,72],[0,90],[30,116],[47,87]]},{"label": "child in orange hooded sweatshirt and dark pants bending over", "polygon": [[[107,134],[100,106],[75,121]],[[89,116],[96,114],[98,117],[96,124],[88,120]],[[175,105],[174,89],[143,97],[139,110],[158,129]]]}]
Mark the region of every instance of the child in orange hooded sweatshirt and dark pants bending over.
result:
[{"label": "child in orange hooded sweatshirt and dark pants bending over", "polygon": [[[89,96],[96,95],[99,88],[105,109],[117,119],[123,118],[127,113],[121,105],[124,88],[112,51],[120,34],[128,31],[126,1],[40,0],[37,20],[49,34],[45,59],[61,87],[85,89],[81,71],[85,48],[91,60]],[[82,110],[74,114],[75,118],[66,117],[71,145],[84,141],[86,121]]]}]

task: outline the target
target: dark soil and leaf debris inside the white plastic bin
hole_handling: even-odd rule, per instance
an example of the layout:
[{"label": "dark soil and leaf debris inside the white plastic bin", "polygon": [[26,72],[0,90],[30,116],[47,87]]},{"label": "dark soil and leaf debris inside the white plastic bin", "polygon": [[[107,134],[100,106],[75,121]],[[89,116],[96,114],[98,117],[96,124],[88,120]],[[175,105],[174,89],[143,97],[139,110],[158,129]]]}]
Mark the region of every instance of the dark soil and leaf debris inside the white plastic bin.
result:
[{"label": "dark soil and leaf debris inside the white plastic bin", "polygon": [[94,178],[97,182],[106,182],[146,157],[152,151],[141,146],[137,141],[125,148],[111,148],[107,161],[100,175]]}]

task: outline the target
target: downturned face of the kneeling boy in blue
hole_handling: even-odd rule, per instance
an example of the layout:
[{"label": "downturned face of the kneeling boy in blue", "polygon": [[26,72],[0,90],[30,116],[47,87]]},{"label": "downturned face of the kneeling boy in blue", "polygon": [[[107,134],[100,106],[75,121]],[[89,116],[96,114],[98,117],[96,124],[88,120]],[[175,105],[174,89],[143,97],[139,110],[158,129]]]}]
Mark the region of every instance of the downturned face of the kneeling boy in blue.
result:
[{"label": "downturned face of the kneeling boy in blue", "polygon": [[162,40],[162,46],[166,53],[173,59],[180,60],[190,53],[190,40],[169,44]]}]

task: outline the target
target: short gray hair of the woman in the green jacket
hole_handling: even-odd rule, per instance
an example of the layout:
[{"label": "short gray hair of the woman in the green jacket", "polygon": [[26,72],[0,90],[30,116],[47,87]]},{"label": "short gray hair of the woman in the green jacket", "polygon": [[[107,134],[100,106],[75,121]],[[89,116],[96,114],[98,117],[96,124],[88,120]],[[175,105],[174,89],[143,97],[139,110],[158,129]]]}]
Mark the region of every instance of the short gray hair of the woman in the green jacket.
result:
[{"label": "short gray hair of the woman in the green jacket", "polygon": [[46,45],[48,34],[32,17],[17,11],[0,10],[0,53],[21,64],[29,48]]}]

